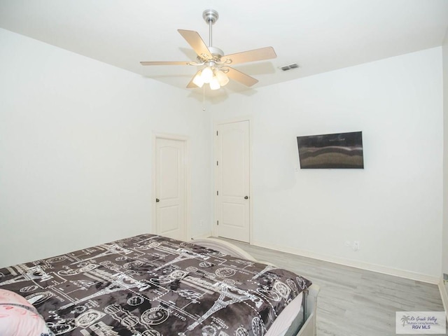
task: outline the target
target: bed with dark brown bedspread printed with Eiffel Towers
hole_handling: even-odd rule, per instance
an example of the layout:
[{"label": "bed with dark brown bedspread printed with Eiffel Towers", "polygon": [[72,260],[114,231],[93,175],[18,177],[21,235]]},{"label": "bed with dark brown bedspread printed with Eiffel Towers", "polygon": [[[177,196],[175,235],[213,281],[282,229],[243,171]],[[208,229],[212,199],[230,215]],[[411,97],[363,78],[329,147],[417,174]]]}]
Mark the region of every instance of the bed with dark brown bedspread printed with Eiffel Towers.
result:
[{"label": "bed with dark brown bedspread printed with Eiffel Towers", "polygon": [[54,335],[316,335],[318,286],[218,239],[120,239],[2,268],[0,290]]}]

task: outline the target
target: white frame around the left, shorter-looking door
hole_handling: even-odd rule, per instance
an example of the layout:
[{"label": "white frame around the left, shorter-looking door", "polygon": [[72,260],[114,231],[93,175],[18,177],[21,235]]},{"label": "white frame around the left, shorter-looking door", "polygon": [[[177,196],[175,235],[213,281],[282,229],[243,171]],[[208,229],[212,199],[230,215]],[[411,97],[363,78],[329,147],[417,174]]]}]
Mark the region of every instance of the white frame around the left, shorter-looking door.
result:
[{"label": "white frame around the left, shorter-looking door", "polygon": [[181,135],[181,134],[169,134],[169,133],[158,133],[158,132],[153,132],[153,165],[152,165],[152,180],[153,180],[153,190],[152,190],[152,198],[151,198],[151,202],[153,204],[153,206],[151,207],[151,211],[153,211],[152,214],[152,222],[153,225],[151,225],[151,229],[153,231],[153,233],[158,234],[157,233],[157,209],[156,209],[156,205],[155,204],[155,199],[157,198],[157,190],[155,188],[156,186],[156,169],[157,169],[157,139],[168,139],[168,140],[176,140],[176,141],[183,141],[184,144],[184,162],[183,162],[183,167],[185,169],[185,182],[184,182],[184,195],[185,195],[185,200],[184,200],[184,223],[186,225],[185,228],[185,235],[186,235],[186,239],[191,239],[191,228],[190,228],[190,213],[191,213],[191,209],[190,209],[190,199],[191,199],[191,174],[190,174],[190,137],[187,137],[185,135]]}]

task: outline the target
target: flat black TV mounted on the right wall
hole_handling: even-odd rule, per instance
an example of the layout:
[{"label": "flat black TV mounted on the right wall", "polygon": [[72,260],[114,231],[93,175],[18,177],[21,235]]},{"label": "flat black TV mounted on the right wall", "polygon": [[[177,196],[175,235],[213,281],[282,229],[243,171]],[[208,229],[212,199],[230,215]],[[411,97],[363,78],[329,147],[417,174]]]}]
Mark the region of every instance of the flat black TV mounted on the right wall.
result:
[{"label": "flat black TV mounted on the right wall", "polygon": [[363,132],[297,137],[301,169],[364,168]]}]

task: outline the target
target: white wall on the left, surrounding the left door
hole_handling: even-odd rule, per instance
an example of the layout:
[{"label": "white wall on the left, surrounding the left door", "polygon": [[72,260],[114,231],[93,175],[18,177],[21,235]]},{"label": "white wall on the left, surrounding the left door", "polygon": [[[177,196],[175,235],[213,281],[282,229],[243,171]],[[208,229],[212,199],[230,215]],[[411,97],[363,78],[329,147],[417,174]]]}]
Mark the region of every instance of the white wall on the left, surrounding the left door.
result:
[{"label": "white wall on the left, surrounding the left door", "polygon": [[152,232],[153,132],[190,137],[210,223],[208,112],[178,90],[0,29],[0,267]]}]

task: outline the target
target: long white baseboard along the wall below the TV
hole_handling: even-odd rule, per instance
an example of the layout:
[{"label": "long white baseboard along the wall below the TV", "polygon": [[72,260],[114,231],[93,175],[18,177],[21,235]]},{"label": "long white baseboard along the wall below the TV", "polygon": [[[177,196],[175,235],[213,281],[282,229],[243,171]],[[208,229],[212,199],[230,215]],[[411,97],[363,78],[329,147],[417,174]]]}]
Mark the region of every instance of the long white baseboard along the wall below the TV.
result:
[{"label": "long white baseboard along the wall below the TV", "polygon": [[378,272],[378,273],[388,274],[388,275],[393,275],[393,276],[400,276],[400,278],[412,279],[412,280],[426,282],[426,283],[433,283],[435,285],[437,285],[439,283],[438,276],[430,276],[427,274],[421,274],[421,273],[416,273],[416,272],[412,272],[412,271],[407,271],[405,269],[396,269],[393,267],[370,264],[368,262],[333,257],[331,255],[321,255],[321,254],[310,252],[310,251],[300,250],[298,248],[290,248],[287,246],[267,244],[267,243],[264,243],[261,241],[252,241],[251,244],[253,244],[255,246],[264,247],[264,248],[270,248],[270,249],[276,250],[276,251],[291,253],[291,254],[295,254],[295,255],[302,255],[303,257],[333,262],[333,263],[339,264],[339,265],[345,265],[345,266],[355,267],[355,268],[359,268],[359,269],[365,269],[367,271]]}]

